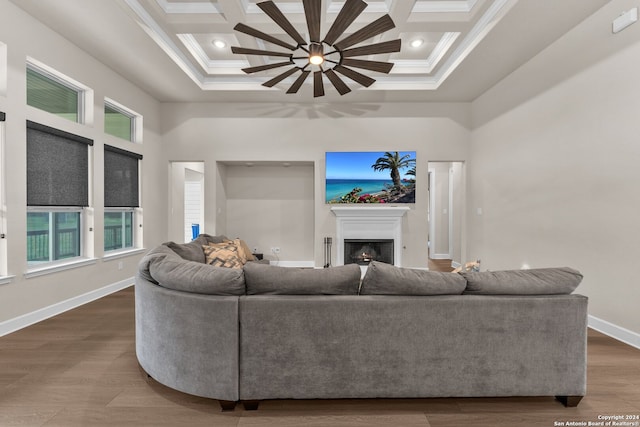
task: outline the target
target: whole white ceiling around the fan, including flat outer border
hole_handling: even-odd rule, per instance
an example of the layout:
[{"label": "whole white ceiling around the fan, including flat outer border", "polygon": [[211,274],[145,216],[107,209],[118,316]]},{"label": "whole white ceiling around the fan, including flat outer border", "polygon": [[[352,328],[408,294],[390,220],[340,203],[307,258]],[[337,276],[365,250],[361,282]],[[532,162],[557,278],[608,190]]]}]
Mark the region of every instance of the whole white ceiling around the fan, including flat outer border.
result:
[{"label": "whole white ceiling around the fan, including flat outer border", "polygon": [[[282,58],[231,52],[231,46],[273,50],[269,43],[234,31],[238,23],[291,41],[256,5],[260,1],[14,0],[14,3],[160,100],[313,102],[312,79],[299,93],[287,95],[284,92],[295,76],[274,88],[262,86],[283,69],[251,75],[242,71]],[[607,3],[606,0],[365,1],[368,7],[345,35],[389,14],[396,28],[363,44],[399,38],[402,49],[398,53],[361,58],[389,61],[394,67],[389,74],[363,71],[376,79],[369,88],[345,79],[353,92],[343,97],[327,86],[329,100],[474,99]],[[308,39],[302,0],[275,0],[275,3]],[[344,0],[323,0],[321,34],[326,33],[343,5]],[[81,30],[70,25],[74,21],[83,23]],[[419,41],[419,46],[413,45]]]}]

